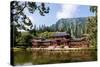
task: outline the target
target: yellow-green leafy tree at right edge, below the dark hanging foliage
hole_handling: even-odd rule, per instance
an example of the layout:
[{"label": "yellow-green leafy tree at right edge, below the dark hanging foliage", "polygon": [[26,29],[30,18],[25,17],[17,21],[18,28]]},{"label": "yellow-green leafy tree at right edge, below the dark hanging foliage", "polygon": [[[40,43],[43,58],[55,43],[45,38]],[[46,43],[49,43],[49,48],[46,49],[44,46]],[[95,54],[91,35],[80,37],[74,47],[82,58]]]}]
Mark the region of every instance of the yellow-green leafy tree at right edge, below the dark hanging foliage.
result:
[{"label": "yellow-green leafy tree at right edge, below the dark hanging foliage", "polygon": [[87,33],[90,35],[90,44],[94,47],[97,46],[97,22],[95,17],[90,17],[88,19],[89,23],[87,24]]}]

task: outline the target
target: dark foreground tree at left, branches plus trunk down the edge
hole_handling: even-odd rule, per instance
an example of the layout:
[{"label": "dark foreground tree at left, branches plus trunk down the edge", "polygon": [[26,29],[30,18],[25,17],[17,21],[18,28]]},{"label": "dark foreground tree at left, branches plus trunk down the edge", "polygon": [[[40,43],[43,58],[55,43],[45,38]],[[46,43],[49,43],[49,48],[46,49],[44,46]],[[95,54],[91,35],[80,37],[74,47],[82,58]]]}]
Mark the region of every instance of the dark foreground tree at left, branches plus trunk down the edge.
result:
[{"label": "dark foreground tree at left, branches plus trunk down the edge", "polygon": [[[45,7],[44,3],[41,3],[39,6],[35,2],[21,2],[21,1],[12,1],[10,4],[11,7],[11,41],[13,47],[16,42],[16,38],[20,37],[18,30],[30,31],[33,27],[31,20],[24,13],[24,10],[27,9],[29,13],[33,14],[35,10],[39,11],[41,16],[45,16],[49,13],[49,7]],[[28,27],[26,27],[28,26]]]}]

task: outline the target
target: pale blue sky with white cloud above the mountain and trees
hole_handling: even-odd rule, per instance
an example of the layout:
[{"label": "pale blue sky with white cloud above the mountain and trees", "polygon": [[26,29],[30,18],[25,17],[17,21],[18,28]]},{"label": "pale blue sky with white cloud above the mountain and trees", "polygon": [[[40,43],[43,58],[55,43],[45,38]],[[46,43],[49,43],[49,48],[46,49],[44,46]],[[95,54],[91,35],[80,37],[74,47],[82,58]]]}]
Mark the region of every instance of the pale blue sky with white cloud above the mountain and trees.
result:
[{"label": "pale blue sky with white cloud above the mountain and trees", "polygon": [[[40,5],[40,3],[37,3],[37,5]],[[61,18],[94,16],[94,14],[90,12],[90,6],[88,5],[46,3],[45,6],[50,7],[49,13],[45,16],[41,16],[38,10],[35,10],[33,14],[29,13],[27,8],[24,10],[24,13],[29,17],[33,25],[36,24],[36,26],[39,26],[45,24],[46,26],[50,26]]]}]

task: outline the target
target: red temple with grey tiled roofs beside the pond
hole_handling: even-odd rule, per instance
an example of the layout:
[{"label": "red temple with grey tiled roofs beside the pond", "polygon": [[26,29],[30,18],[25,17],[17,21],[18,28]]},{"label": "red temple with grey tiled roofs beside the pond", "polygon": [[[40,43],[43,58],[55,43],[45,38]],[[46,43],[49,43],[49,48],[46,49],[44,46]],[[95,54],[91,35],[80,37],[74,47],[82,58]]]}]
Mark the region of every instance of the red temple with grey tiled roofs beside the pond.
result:
[{"label": "red temple with grey tiled roofs beside the pond", "polygon": [[48,39],[33,38],[33,48],[87,48],[89,47],[89,40],[87,37],[72,38],[66,32],[56,32]]}]

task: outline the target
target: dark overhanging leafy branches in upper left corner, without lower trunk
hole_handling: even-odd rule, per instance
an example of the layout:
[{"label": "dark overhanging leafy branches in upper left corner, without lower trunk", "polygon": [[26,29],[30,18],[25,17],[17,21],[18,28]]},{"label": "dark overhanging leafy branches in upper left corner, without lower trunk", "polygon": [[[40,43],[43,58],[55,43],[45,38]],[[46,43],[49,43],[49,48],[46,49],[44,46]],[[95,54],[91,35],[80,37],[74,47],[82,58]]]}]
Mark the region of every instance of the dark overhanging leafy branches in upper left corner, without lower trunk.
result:
[{"label": "dark overhanging leafy branches in upper left corner, without lower trunk", "polygon": [[44,3],[37,6],[35,2],[20,2],[12,1],[11,2],[11,25],[15,25],[17,29],[23,29],[28,31],[29,29],[26,26],[32,28],[31,20],[25,15],[24,10],[28,9],[29,13],[34,13],[35,10],[39,10],[41,16],[49,13],[49,7],[45,7]]}]

